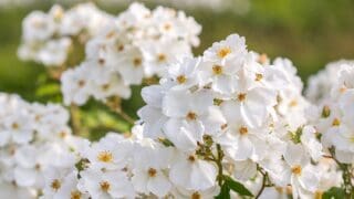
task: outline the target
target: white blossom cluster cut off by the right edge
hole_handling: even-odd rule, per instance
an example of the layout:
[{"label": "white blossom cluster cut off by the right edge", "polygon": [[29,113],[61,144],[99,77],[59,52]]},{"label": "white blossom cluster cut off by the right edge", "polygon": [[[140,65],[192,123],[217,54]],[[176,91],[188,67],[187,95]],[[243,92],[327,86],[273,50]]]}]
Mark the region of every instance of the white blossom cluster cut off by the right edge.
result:
[{"label": "white blossom cluster cut off by the right edge", "polygon": [[311,77],[308,95],[316,103],[310,118],[322,135],[323,146],[340,163],[353,164],[354,62],[329,64],[325,71]]}]

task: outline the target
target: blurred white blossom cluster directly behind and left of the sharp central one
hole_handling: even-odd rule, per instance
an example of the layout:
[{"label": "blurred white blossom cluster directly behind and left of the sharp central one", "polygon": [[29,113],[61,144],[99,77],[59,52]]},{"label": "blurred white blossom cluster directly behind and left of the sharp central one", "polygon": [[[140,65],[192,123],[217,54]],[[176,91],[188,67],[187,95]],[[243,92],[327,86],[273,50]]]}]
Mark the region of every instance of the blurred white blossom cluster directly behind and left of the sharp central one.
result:
[{"label": "blurred white blossom cluster directly behind and left of the sharp central one", "polygon": [[181,11],[133,3],[88,41],[80,66],[63,73],[65,104],[84,104],[90,96],[128,98],[131,85],[162,76],[169,63],[191,56],[201,27]]}]

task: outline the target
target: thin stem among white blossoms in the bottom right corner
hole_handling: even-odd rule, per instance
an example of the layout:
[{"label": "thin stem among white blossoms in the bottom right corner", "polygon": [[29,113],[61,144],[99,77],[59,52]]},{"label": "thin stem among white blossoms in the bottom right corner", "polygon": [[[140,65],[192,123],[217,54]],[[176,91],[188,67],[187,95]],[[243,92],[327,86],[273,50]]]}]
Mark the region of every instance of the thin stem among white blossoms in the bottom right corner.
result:
[{"label": "thin stem among white blossoms in the bottom right corner", "polygon": [[344,182],[344,192],[345,192],[345,198],[351,199],[354,197],[354,185],[352,182],[352,167],[348,164],[343,164],[335,158],[335,150],[334,148],[330,148],[330,154],[332,156],[332,159],[339,165],[340,169],[342,170],[342,179]]}]

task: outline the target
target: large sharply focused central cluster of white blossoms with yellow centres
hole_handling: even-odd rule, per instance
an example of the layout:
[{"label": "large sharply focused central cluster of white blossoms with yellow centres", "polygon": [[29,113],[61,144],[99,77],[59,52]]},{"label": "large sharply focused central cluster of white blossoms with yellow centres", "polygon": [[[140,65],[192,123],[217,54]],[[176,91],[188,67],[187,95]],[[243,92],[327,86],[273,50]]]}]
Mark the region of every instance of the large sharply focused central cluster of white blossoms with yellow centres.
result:
[{"label": "large sharply focused central cluster of white blossoms with yellow centres", "polygon": [[145,87],[147,105],[138,115],[144,137],[168,140],[180,157],[169,167],[177,189],[205,193],[222,186],[223,170],[249,184],[261,176],[278,190],[290,185],[294,198],[310,198],[333,180],[316,169],[324,163],[322,145],[306,125],[309,103],[301,92],[289,60],[270,63],[233,34]]}]

